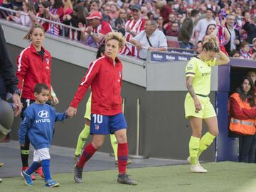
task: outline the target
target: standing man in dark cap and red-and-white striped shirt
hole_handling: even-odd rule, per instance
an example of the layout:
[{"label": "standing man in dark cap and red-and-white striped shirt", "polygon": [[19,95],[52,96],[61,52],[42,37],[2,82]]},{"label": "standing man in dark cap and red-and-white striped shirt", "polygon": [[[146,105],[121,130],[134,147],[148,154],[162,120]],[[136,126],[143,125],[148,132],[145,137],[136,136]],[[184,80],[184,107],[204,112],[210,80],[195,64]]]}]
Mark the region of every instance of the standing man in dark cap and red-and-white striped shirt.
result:
[{"label": "standing man in dark cap and red-and-white striped shirt", "polygon": [[[141,18],[141,7],[138,4],[135,4],[134,6],[131,6],[132,10],[132,18],[125,23],[125,38],[127,42],[131,40],[133,37],[135,37],[138,33],[140,33],[142,30],[144,30],[145,20]],[[136,56],[138,55],[138,51],[136,47],[131,45],[124,45],[122,47],[121,54],[123,55],[132,55]]]}]

